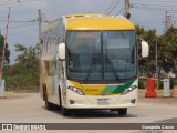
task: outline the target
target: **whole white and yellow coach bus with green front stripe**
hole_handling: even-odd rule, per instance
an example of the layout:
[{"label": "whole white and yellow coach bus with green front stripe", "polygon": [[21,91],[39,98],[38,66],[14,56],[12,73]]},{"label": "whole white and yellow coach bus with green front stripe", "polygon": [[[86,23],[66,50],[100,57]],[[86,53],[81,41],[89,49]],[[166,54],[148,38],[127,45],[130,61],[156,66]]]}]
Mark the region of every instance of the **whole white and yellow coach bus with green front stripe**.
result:
[{"label": "whole white and yellow coach bus with green front stripe", "polygon": [[[124,17],[71,14],[41,33],[41,96],[46,109],[107,109],[127,114],[137,102],[137,40]],[[142,55],[148,44],[142,41]]]}]

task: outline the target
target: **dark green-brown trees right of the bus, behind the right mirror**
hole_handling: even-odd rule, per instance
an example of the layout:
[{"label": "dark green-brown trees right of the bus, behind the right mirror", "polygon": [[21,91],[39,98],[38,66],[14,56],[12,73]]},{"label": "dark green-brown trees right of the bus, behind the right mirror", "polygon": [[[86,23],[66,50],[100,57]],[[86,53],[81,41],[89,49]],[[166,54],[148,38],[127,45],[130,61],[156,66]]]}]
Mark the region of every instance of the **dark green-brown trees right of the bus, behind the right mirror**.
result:
[{"label": "dark green-brown trees right of the bus, behind the right mirror", "polygon": [[[146,71],[148,76],[155,72],[155,43],[158,43],[158,66],[166,73],[169,71],[177,72],[177,29],[171,27],[163,35],[156,35],[156,30],[145,30],[136,27],[137,37],[144,39],[149,44],[149,57],[139,59],[139,72]],[[140,51],[140,47],[139,47]]]}]

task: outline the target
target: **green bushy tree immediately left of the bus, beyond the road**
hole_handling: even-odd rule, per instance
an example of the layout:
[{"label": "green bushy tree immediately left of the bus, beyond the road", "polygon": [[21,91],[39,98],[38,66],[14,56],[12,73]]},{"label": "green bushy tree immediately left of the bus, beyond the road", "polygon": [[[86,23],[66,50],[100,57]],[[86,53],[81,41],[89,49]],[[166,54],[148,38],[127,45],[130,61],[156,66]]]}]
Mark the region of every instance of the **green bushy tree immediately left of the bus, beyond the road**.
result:
[{"label": "green bushy tree immediately left of the bus, beyond the road", "polygon": [[15,51],[20,52],[14,65],[9,68],[9,88],[31,88],[39,83],[39,64],[34,47],[15,44]]}]

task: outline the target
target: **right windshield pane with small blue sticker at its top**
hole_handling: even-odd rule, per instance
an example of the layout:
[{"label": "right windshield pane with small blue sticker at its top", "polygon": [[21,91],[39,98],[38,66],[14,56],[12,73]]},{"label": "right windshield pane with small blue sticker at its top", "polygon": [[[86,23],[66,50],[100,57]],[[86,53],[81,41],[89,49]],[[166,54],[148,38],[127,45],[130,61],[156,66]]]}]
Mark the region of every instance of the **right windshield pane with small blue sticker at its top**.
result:
[{"label": "right windshield pane with small blue sticker at its top", "polygon": [[104,80],[136,75],[136,43],[133,31],[103,32]]}]

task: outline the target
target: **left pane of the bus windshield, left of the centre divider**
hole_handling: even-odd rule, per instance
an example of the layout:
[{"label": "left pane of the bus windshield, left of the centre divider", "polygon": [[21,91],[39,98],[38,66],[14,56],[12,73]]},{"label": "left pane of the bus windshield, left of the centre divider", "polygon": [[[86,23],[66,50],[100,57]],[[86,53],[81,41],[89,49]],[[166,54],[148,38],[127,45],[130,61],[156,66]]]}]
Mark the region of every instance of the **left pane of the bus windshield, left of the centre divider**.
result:
[{"label": "left pane of the bus windshield, left of the centre divider", "polygon": [[100,32],[70,31],[66,48],[70,78],[86,80],[88,76],[88,80],[102,80]]}]

